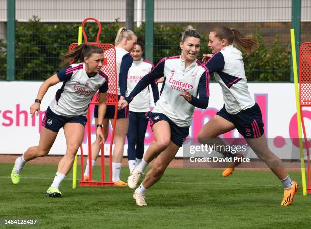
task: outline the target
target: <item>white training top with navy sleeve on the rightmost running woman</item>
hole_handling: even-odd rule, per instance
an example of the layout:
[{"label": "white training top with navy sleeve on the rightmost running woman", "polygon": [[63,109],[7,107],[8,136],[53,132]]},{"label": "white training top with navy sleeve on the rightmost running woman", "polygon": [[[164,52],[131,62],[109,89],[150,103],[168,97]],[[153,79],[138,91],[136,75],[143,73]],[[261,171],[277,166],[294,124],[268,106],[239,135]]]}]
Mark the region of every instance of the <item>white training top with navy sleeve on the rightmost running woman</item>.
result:
[{"label": "white training top with navy sleeve on the rightmost running woman", "polygon": [[208,60],[206,67],[222,88],[228,113],[237,114],[254,106],[255,101],[248,92],[242,53],[237,48],[226,46]]}]

